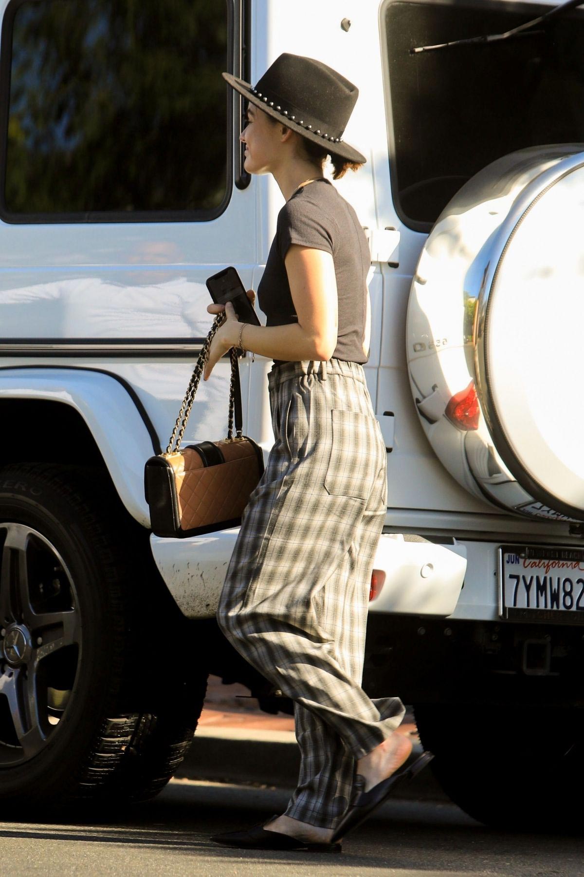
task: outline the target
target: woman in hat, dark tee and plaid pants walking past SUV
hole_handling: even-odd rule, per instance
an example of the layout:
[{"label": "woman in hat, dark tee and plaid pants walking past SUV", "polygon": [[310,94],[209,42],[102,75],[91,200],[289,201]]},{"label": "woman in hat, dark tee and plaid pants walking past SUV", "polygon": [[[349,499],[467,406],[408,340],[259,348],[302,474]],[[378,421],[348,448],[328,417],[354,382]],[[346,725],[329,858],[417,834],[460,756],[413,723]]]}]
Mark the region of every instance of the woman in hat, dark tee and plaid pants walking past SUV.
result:
[{"label": "woman in hat, dark tee and plaid pants walking past SUV", "polygon": [[373,702],[360,686],[386,453],[363,371],[369,248],[355,211],[323,175],[327,155],[334,179],[365,161],[342,140],[358,92],[320,61],[292,54],[255,89],[223,76],[249,101],[245,169],[273,175],[285,205],[258,288],[267,324],[238,323],[228,303],[204,374],[232,346],[274,359],[276,443],[243,515],[218,620],[294,701],[302,759],[285,814],[213,839],[340,852],[337,841],[389,794],[412,750],[394,733],[404,716],[398,698]]}]

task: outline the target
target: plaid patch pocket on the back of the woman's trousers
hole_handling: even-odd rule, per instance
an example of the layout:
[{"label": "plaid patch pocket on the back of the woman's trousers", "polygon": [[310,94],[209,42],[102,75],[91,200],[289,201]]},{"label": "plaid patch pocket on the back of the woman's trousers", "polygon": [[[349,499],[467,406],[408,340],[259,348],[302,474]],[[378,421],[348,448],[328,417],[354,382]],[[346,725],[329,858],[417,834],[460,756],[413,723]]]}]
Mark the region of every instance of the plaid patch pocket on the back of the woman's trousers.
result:
[{"label": "plaid patch pocket on the back of the woman's trousers", "polygon": [[330,457],[324,485],[329,494],[366,500],[379,471],[376,418],[333,409]]}]

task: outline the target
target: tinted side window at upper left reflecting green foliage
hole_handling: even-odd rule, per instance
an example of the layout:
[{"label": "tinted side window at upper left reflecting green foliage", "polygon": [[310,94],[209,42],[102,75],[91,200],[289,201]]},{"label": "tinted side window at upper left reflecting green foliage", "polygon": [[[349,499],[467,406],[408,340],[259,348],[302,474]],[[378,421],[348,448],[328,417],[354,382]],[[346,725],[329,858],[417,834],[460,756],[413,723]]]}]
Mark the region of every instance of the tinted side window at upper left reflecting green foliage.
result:
[{"label": "tinted side window at upper left reflecting green foliage", "polygon": [[222,0],[18,6],[7,209],[216,207],[226,189],[227,68]]}]

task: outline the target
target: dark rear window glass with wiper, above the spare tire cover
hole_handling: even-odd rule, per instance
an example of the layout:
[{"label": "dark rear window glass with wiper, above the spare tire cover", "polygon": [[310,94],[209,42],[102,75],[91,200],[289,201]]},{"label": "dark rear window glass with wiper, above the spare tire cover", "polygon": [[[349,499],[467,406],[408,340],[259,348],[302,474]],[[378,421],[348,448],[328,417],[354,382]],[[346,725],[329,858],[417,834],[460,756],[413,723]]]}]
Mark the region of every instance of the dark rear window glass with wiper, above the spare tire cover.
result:
[{"label": "dark rear window glass with wiper, above the spare tire cover", "polygon": [[584,141],[581,13],[569,12],[516,39],[411,52],[506,32],[549,8],[513,4],[510,11],[507,4],[484,2],[386,6],[391,173],[406,224],[427,228],[464,182],[506,153]]}]

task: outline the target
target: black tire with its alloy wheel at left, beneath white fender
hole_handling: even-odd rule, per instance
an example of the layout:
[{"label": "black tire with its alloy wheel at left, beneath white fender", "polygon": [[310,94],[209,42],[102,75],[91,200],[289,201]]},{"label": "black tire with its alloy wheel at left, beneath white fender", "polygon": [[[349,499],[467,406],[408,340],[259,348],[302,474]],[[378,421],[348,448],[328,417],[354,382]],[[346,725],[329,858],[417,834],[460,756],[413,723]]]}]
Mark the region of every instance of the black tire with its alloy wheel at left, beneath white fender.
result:
[{"label": "black tire with its alloy wheel at left, beneath white fender", "polygon": [[145,678],[144,617],[160,601],[131,524],[102,472],[0,469],[0,802],[144,800],[190,744],[201,676],[187,704],[178,679],[148,696],[162,685]]}]

